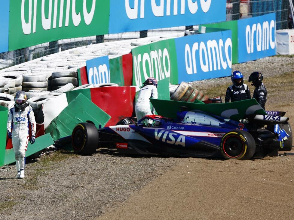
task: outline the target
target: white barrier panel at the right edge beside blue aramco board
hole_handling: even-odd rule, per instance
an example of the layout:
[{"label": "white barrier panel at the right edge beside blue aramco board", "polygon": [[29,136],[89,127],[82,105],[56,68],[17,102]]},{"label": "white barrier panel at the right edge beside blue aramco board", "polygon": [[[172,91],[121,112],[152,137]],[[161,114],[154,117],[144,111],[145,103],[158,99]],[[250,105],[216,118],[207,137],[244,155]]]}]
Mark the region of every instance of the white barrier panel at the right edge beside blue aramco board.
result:
[{"label": "white barrier panel at the right edge beside blue aramco board", "polygon": [[277,54],[292,55],[294,54],[294,29],[277,30]]}]

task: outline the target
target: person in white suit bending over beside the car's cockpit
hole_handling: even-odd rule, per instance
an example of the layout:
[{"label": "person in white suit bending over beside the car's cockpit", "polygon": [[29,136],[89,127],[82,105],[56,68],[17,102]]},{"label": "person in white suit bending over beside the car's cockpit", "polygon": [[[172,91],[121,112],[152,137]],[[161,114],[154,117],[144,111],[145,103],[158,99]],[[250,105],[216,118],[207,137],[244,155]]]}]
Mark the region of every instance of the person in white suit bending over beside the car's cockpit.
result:
[{"label": "person in white suit bending over beside the car's cockpit", "polygon": [[139,96],[135,106],[136,117],[138,121],[145,115],[154,113],[154,109],[151,111],[149,98],[158,98],[157,80],[153,77],[146,79],[143,87],[139,90]]}]

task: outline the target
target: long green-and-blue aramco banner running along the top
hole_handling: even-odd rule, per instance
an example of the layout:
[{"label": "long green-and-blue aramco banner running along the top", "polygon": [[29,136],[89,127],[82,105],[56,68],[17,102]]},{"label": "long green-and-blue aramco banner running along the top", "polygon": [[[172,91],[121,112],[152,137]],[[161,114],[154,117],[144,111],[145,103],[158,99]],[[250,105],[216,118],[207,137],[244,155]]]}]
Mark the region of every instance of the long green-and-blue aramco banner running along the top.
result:
[{"label": "long green-and-blue aramco banner running along the top", "polygon": [[[3,42],[4,51],[66,38],[226,19],[226,0],[10,0],[9,14],[7,5],[7,0],[0,3],[4,10],[1,20],[5,24],[9,20],[9,41]],[[8,35],[5,28],[2,34]]]}]

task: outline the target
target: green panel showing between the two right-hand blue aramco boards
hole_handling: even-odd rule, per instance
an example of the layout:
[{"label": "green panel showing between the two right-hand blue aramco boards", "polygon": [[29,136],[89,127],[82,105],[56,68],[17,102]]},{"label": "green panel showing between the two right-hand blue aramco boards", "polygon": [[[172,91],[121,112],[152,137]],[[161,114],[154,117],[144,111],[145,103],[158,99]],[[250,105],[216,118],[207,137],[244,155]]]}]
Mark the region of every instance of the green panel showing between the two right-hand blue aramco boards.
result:
[{"label": "green panel showing between the two right-hand blue aramco boards", "polygon": [[226,22],[220,22],[220,23],[215,23],[215,24],[205,24],[205,25],[200,25],[199,28],[202,26],[206,27],[206,33],[211,33],[211,32],[216,32],[216,31],[223,31],[225,30],[231,30],[232,31],[232,43],[233,43],[233,48],[232,48],[232,54],[233,54],[233,59],[232,63],[237,64],[238,62],[238,22],[237,20],[235,21],[226,21]]}]

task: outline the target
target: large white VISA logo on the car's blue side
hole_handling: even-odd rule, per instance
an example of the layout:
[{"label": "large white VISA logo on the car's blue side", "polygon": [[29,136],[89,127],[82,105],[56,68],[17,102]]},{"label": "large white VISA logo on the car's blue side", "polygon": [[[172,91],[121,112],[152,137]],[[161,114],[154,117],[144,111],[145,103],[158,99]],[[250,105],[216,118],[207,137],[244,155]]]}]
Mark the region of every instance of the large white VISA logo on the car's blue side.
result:
[{"label": "large white VISA logo on the car's blue side", "polygon": [[158,131],[158,129],[155,129],[154,131],[156,140],[162,138],[161,141],[164,143],[182,145],[183,147],[185,147],[185,135],[180,135],[174,132],[164,130],[161,130],[159,132]]}]

